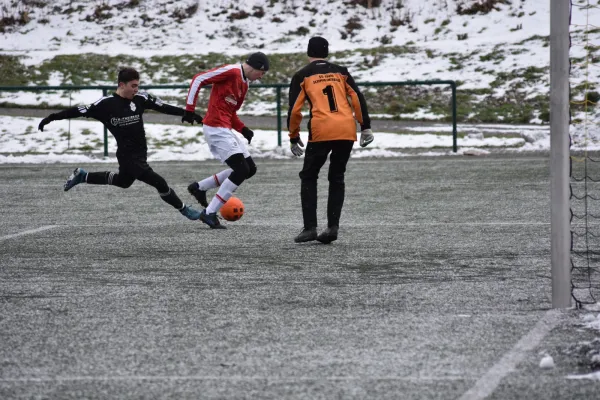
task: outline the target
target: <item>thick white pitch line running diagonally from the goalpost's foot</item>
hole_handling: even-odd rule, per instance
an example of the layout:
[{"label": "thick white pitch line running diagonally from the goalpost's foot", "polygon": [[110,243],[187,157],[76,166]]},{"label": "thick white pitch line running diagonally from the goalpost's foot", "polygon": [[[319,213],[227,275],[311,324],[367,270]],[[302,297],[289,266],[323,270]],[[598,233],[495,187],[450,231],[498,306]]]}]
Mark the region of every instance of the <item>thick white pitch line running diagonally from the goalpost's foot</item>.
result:
[{"label": "thick white pitch line running diagonally from the goalpost's foot", "polygon": [[459,400],[481,400],[492,394],[500,381],[513,372],[517,365],[533,350],[560,321],[560,310],[550,310],[531,331],[521,338],[500,361],[486,372]]}]

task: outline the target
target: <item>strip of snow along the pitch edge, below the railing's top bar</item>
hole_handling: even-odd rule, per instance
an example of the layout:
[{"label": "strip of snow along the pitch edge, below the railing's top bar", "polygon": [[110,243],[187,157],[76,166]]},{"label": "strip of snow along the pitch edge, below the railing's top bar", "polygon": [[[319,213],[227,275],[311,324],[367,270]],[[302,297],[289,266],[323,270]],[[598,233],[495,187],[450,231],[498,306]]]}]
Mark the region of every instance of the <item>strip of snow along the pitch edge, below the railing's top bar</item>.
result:
[{"label": "strip of snow along the pitch edge, below the railing's top bar", "polygon": [[[47,163],[96,161],[104,149],[102,124],[92,120],[61,120],[46,125],[44,132],[37,129],[39,118],[0,116],[0,163]],[[202,127],[189,125],[145,124],[150,161],[210,160],[212,155],[202,136]],[[530,125],[459,125],[464,138],[458,138],[459,152],[470,154],[473,149],[487,153],[488,149],[511,151],[546,151],[549,149],[548,127]],[[408,127],[409,133],[374,132],[375,141],[367,148],[355,146],[354,157],[395,157],[406,155],[446,155],[452,153],[452,128],[448,124],[431,127]],[[431,133],[431,132],[436,133]],[[498,135],[490,132],[497,131]],[[287,158],[287,133],[282,132],[282,147],[277,146],[274,130],[255,130],[249,150],[254,157]],[[421,133],[428,132],[428,133]],[[513,135],[506,135],[513,133]],[[301,133],[306,142],[306,132]],[[521,135],[537,138],[527,142]],[[531,140],[531,139],[530,139]],[[108,151],[116,151],[116,142],[109,133]],[[41,154],[40,154],[41,153]],[[98,155],[100,153],[100,156]],[[86,158],[87,157],[87,158]],[[114,161],[114,160],[109,160]]]}]

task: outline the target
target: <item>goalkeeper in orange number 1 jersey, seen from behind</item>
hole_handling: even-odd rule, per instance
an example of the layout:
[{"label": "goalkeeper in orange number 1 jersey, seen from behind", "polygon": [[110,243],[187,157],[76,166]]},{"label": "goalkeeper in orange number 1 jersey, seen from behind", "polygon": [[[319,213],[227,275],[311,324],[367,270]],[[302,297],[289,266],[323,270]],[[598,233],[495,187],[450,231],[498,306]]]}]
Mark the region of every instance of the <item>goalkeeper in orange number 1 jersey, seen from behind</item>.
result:
[{"label": "goalkeeper in orange number 1 jersey, seen from behind", "polygon": [[[311,38],[307,55],[309,64],[296,72],[289,92],[288,130],[290,148],[295,156],[304,153],[300,138],[301,110],[307,100],[310,105],[308,144],[300,171],[304,228],[294,241],[331,243],[338,236],[344,204],[344,174],[356,141],[356,121],[361,128],[362,147],[373,141],[373,133],[367,103],[354,79],[345,67],[326,60],[329,55],[327,40],[318,36]],[[329,153],[327,228],[317,235],[317,179]]]}]

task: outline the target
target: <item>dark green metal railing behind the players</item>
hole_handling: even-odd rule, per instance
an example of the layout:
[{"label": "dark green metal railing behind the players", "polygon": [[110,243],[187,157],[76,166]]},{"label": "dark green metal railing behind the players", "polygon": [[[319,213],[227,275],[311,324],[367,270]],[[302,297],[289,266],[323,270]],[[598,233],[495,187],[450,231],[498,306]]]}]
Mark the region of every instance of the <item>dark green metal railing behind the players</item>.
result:
[{"label": "dark green metal railing behind the players", "polygon": [[[457,130],[456,130],[456,82],[451,80],[429,80],[429,81],[398,81],[398,82],[357,82],[357,86],[361,87],[381,87],[381,86],[419,86],[419,85],[449,85],[452,89],[452,151],[457,152]],[[210,86],[207,86],[210,87]],[[281,147],[282,134],[282,107],[281,107],[281,90],[288,88],[287,83],[274,84],[258,84],[251,85],[252,88],[275,88],[277,97],[277,145]],[[144,90],[152,89],[188,89],[189,85],[144,85]],[[1,91],[48,91],[48,90],[63,90],[63,91],[80,91],[80,90],[102,90],[102,96],[106,96],[109,91],[115,90],[115,86],[98,85],[98,86],[0,86]],[[108,156],[108,130],[104,127],[104,156]]]}]

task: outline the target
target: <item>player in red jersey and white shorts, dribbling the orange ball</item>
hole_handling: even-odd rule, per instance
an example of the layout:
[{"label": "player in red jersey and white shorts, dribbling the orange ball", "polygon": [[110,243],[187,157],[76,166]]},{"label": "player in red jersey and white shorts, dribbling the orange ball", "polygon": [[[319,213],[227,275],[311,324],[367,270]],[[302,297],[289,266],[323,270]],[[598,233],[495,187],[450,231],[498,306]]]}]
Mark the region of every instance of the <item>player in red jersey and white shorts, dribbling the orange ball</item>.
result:
[{"label": "player in red jersey and white shorts, dribbling the orange ball", "polygon": [[[251,54],[243,64],[228,64],[200,72],[190,84],[182,122],[194,123],[198,92],[203,86],[212,85],[208,110],[203,119],[204,137],[210,152],[229,166],[188,187],[190,194],[206,207],[200,213],[200,220],[212,229],[225,229],[217,218],[217,212],[242,182],[256,173],[256,164],[250,157],[246,143],[232,129],[240,132],[250,144],[254,132],[239,119],[237,111],[248,92],[248,83],[262,78],[268,70],[267,56],[258,52]],[[219,190],[208,203],[206,191],[216,187]]]}]

